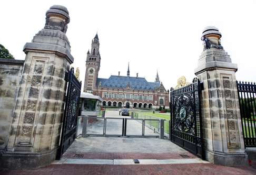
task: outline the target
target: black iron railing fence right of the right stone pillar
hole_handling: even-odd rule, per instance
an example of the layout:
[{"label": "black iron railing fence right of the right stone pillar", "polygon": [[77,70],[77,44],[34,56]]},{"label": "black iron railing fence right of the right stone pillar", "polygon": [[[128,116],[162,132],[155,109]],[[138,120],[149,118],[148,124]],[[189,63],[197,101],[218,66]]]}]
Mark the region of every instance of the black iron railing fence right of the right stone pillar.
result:
[{"label": "black iron railing fence right of the right stone pillar", "polygon": [[256,147],[256,85],[237,82],[245,147]]}]

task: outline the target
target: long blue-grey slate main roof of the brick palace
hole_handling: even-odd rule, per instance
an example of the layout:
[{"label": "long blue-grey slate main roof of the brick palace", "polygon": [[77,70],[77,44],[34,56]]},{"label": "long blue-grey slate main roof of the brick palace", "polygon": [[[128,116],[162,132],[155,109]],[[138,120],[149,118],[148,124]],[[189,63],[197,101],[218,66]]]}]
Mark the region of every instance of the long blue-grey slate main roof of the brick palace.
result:
[{"label": "long blue-grey slate main roof of the brick palace", "polygon": [[108,88],[126,88],[134,90],[154,90],[160,87],[160,82],[147,82],[145,78],[111,75],[109,79],[97,78],[97,86]]}]

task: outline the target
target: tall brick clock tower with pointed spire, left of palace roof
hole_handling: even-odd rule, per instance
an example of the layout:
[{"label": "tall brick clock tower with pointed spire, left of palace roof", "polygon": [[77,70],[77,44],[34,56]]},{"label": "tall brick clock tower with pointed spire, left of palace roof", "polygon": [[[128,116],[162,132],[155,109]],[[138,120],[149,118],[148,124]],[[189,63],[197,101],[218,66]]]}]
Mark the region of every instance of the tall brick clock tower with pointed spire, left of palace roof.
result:
[{"label": "tall brick clock tower with pointed spire, left of palace roof", "polygon": [[88,50],[86,57],[86,72],[84,79],[84,92],[92,93],[93,90],[97,90],[96,82],[100,70],[101,55],[100,55],[100,42],[98,34],[92,40],[91,53]]}]

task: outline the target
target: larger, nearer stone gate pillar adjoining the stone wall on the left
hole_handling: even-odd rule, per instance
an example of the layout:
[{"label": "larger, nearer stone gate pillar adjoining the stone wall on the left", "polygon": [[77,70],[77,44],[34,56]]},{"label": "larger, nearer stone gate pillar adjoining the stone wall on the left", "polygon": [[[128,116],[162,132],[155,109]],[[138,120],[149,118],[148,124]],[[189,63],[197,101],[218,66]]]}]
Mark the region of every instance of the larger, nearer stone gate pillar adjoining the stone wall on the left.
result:
[{"label": "larger, nearer stone gate pillar adjoining the stone wall on the left", "polygon": [[7,149],[0,158],[2,167],[36,168],[55,160],[64,112],[65,72],[73,63],[65,35],[69,21],[65,7],[52,6],[46,12],[44,28],[24,46],[26,58]]}]

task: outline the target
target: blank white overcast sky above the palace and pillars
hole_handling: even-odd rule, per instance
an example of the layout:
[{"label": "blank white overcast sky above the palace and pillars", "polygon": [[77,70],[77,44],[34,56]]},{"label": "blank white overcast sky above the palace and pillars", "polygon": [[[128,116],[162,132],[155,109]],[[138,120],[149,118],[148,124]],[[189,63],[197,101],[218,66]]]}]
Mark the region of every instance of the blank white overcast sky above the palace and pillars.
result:
[{"label": "blank white overcast sky above the palace and pillars", "polygon": [[83,81],[86,52],[98,32],[99,78],[126,75],[130,62],[131,76],[154,81],[158,70],[166,89],[182,75],[191,82],[209,25],[222,33],[222,46],[238,64],[237,79],[256,80],[256,1],[3,1],[0,43],[15,59],[25,59],[23,46],[44,27],[54,4],[70,13],[66,35]]}]

